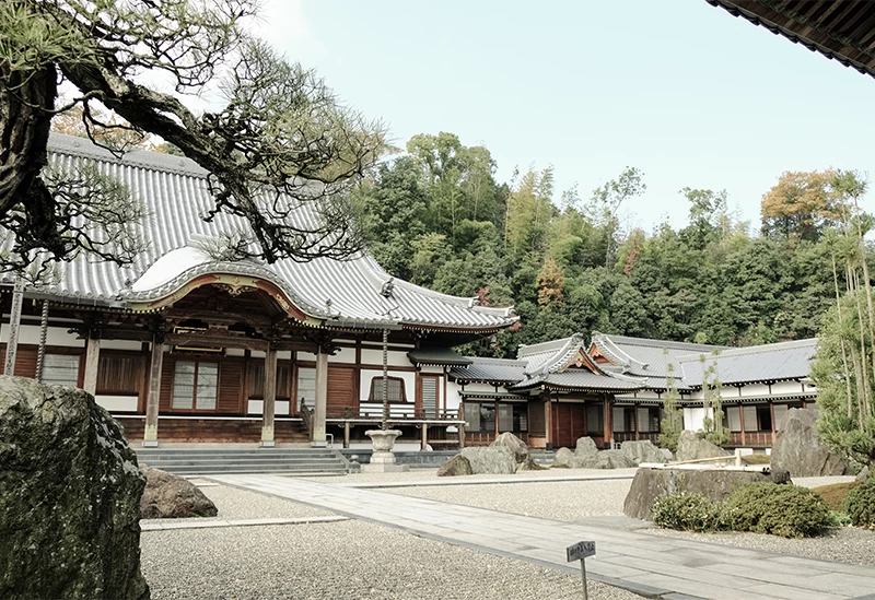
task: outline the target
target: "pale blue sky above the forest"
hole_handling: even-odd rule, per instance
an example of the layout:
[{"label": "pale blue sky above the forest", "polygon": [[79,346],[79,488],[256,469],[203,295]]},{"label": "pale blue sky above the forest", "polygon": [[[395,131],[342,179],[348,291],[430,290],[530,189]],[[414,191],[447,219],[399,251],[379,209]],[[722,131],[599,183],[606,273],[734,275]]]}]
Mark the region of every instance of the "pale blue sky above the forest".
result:
[{"label": "pale blue sky above the forest", "polygon": [[505,181],[552,164],[557,201],[642,169],[626,209],[648,232],[686,222],[685,186],[726,189],[757,231],[784,170],[875,176],[875,80],[704,0],[266,0],[264,16],[398,145],[456,133]]}]

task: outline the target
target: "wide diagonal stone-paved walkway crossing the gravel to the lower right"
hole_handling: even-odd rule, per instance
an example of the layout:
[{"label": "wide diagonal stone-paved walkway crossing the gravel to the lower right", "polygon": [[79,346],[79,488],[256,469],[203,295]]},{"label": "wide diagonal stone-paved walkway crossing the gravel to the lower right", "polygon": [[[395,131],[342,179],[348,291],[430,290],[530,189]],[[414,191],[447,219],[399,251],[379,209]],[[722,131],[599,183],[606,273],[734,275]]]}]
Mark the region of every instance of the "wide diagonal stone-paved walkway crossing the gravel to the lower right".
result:
[{"label": "wide diagonal stone-paved walkway crossing the gravel to the lower right", "polygon": [[565,573],[565,548],[596,542],[590,576],[650,598],[840,600],[875,590],[875,568],[658,538],[276,475],[210,479]]}]

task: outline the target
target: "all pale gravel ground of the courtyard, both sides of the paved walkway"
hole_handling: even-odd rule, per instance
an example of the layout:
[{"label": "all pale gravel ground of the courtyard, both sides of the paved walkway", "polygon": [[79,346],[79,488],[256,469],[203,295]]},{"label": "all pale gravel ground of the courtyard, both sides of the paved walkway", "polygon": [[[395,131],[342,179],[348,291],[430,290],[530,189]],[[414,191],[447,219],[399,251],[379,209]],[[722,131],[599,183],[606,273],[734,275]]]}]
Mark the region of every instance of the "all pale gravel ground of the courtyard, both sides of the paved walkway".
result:
[{"label": "all pale gravel ground of the courtyard, both sides of the paved walkway", "polygon": [[[375,490],[386,493],[387,502],[390,502],[388,494],[401,494],[561,521],[587,522],[587,519],[621,517],[631,480],[551,481],[579,473],[584,471],[535,471],[520,475],[537,482],[479,485],[422,486],[446,481],[439,480],[434,470],[314,481],[340,485],[404,481],[413,485]],[[629,470],[628,474],[631,473],[633,470]],[[602,474],[607,473],[603,471]],[[490,478],[478,475],[477,479]],[[207,484],[202,491],[219,507],[217,519],[331,515],[327,510],[222,485]],[[143,521],[149,522],[154,521]],[[604,525],[604,520],[599,525]],[[752,533],[640,531],[875,565],[875,532],[858,529],[843,528],[825,538],[809,540]],[[581,598],[579,577],[359,520],[143,531],[141,548],[143,574],[156,600]],[[632,600],[640,597],[591,581],[590,598]]]}]

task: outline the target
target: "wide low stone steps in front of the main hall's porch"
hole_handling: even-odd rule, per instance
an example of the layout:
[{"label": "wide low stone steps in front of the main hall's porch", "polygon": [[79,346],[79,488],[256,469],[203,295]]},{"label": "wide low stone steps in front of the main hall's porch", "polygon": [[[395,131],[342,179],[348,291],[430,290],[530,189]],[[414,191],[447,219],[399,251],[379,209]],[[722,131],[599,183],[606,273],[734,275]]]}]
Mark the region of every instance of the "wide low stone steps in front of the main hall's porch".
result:
[{"label": "wide low stone steps in front of the main hall's porch", "polygon": [[271,473],[343,475],[347,461],[330,448],[135,448],[140,463],[177,475]]}]

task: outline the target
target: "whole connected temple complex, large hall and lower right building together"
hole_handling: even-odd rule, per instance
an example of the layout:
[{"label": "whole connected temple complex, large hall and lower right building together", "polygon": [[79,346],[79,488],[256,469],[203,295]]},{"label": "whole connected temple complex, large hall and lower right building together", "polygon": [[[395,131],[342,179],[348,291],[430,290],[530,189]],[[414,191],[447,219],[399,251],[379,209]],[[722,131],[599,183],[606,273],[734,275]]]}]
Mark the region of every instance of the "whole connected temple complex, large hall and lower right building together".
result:
[{"label": "whole connected temple complex, large hall and lower right building together", "polygon": [[[245,223],[202,219],[214,200],[194,162],[118,158],[55,134],[49,150],[56,168],[89,163],[124,184],[145,209],[147,245],[125,268],[80,255],[42,283],[0,277],[0,358],[7,373],[91,392],[135,444],[370,446],[365,430],[386,419],[421,448],[503,432],[534,448],[582,436],[611,447],[655,442],[670,389],[685,427],[701,428],[707,391],[719,389],[730,446],[766,448],[786,410],[817,397],[816,340],[732,349],[593,332],[512,360],[462,356],[452,349],[514,325],[513,309],[393,279],[366,252],[223,258],[211,248]],[[307,228],[313,213],[290,219]]]}]

